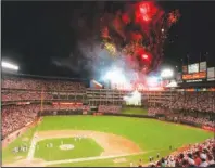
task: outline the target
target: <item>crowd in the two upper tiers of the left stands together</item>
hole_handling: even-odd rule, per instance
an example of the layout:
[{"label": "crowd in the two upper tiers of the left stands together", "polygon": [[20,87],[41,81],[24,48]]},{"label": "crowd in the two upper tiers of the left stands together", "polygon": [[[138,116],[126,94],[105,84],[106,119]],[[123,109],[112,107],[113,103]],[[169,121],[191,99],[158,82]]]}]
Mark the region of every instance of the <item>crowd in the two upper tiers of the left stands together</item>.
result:
[{"label": "crowd in the two upper tiers of the left stands together", "polygon": [[2,78],[2,101],[83,100],[83,82],[24,77]]}]

